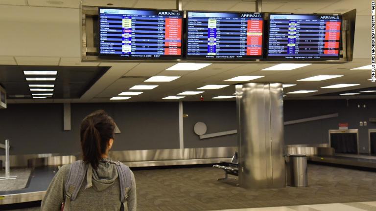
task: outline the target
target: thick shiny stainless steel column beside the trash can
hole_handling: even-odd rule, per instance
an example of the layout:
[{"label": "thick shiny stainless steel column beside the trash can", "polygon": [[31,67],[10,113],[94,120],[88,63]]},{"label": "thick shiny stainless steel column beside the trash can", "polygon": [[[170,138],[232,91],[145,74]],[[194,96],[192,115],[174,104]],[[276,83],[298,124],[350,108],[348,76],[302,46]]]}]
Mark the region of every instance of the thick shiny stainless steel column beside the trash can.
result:
[{"label": "thick shiny stainless steel column beside the trash can", "polygon": [[282,84],[238,84],[236,107],[240,187],[285,187]]}]

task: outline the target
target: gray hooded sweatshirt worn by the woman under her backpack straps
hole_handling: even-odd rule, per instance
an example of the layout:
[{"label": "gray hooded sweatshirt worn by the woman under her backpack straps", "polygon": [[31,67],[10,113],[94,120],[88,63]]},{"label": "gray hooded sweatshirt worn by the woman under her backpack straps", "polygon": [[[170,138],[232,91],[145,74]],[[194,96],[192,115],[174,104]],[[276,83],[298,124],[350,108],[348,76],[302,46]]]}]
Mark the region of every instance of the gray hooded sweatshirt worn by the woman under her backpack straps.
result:
[{"label": "gray hooded sweatshirt worn by the woman under her backpack straps", "polygon": [[[42,200],[41,211],[60,211],[64,201],[64,186],[68,179],[71,165],[62,166],[52,179],[47,193]],[[136,211],[136,182],[132,173],[132,187],[128,190],[128,211]],[[98,169],[93,169],[93,187],[85,190],[86,177],[77,194],[71,201],[71,211],[119,211],[120,185],[118,171],[114,164],[99,162]],[[126,209],[125,209],[126,210]]]}]

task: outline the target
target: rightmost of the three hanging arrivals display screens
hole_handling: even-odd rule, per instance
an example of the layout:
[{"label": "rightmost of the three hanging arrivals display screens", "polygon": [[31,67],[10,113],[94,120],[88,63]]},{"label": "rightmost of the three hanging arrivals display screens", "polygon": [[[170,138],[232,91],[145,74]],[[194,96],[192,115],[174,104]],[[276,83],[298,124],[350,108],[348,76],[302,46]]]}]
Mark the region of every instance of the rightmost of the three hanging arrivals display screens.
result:
[{"label": "rightmost of the three hanging arrivals display screens", "polygon": [[268,59],[339,59],[341,16],[269,15]]}]

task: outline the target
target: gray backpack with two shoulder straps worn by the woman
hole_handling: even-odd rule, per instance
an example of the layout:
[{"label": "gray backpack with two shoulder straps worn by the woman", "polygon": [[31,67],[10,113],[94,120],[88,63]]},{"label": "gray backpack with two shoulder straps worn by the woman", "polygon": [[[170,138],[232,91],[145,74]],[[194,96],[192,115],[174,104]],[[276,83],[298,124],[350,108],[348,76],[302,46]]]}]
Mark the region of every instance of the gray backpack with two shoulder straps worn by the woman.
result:
[{"label": "gray backpack with two shoulder straps worn by the woman", "polygon": [[[132,174],[131,169],[121,162],[106,161],[116,165],[118,171],[118,178],[120,183],[120,211],[127,211],[127,197],[128,190],[132,186]],[[70,211],[71,201],[74,201],[77,197],[78,191],[81,189],[84,177],[87,181],[91,181],[93,167],[91,164],[84,163],[82,160],[75,161],[71,165],[69,171],[68,180],[65,183],[65,203],[62,204],[61,211]],[[88,173],[86,173],[88,172]],[[91,182],[88,182],[88,185]]]}]

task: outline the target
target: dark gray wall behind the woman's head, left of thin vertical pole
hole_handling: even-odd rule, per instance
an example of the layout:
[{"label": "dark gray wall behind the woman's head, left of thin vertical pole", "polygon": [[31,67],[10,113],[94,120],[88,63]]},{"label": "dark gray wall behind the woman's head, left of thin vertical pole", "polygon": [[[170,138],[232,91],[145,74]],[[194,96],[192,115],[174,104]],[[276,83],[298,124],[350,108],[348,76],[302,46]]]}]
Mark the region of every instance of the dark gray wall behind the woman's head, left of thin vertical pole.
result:
[{"label": "dark gray wall behind the woman's head, left of thin vertical pole", "polygon": [[0,143],[10,139],[11,154],[79,152],[80,123],[98,109],[121,130],[113,150],[179,148],[178,103],[71,104],[71,131],[62,104],[9,104],[0,110]]}]

